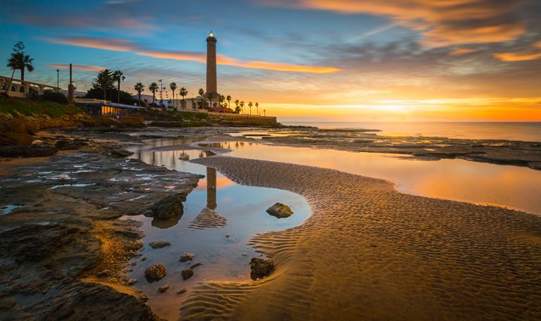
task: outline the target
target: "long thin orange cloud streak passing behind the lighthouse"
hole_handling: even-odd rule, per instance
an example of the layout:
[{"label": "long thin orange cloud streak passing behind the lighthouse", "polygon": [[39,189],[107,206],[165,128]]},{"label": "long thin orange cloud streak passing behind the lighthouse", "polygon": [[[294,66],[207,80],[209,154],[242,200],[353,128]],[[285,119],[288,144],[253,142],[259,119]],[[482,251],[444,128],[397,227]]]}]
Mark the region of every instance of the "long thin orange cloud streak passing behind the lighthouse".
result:
[{"label": "long thin orange cloud streak passing behind the lighthouse", "polygon": [[[197,51],[160,51],[146,49],[135,42],[116,38],[97,38],[97,37],[69,37],[63,39],[44,39],[47,42],[55,44],[68,44],[71,46],[83,46],[87,48],[111,50],[111,51],[129,51],[139,56],[148,56],[158,59],[172,59],[180,61],[196,61],[206,63],[206,53]],[[242,68],[265,69],[275,71],[289,71],[294,73],[336,73],[339,68],[325,67],[321,65],[294,65],[290,63],[273,63],[268,61],[242,61],[235,58],[228,58],[219,55],[216,62],[220,65],[232,65]]]}]

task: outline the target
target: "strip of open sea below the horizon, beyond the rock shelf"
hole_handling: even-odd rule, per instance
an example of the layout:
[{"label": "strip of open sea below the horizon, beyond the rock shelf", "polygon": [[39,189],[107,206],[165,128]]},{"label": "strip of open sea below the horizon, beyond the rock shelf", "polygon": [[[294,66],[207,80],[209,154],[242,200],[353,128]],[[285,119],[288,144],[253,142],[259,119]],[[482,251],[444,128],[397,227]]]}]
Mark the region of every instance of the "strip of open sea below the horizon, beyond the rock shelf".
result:
[{"label": "strip of open sea below the horizon, beyond the rock shelf", "polygon": [[318,128],[381,130],[382,135],[541,141],[541,122],[282,122]]}]

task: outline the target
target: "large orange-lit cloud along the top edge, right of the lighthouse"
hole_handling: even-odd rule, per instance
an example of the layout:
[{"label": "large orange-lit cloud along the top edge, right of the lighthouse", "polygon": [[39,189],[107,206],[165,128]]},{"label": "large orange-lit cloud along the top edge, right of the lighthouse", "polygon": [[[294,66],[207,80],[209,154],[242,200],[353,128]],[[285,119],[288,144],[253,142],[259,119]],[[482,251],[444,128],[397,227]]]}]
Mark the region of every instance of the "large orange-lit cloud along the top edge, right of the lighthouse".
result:
[{"label": "large orange-lit cloud along the top edge, right of the lighthouse", "polygon": [[504,0],[278,0],[287,6],[391,18],[418,30],[422,44],[430,47],[483,44],[517,39],[526,32],[516,12],[525,1]]}]

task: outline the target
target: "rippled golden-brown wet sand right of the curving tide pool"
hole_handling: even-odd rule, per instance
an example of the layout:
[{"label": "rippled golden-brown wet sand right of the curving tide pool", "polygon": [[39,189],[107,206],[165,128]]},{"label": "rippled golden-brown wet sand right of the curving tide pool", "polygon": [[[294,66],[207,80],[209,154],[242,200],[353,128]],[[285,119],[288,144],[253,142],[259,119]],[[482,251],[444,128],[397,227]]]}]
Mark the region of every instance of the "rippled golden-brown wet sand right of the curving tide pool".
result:
[{"label": "rippled golden-brown wet sand right of the curving tide pool", "polygon": [[253,237],[275,272],[203,282],[182,320],[538,320],[541,218],[401,194],[390,182],[213,156],[235,182],[304,196],[303,225]]}]

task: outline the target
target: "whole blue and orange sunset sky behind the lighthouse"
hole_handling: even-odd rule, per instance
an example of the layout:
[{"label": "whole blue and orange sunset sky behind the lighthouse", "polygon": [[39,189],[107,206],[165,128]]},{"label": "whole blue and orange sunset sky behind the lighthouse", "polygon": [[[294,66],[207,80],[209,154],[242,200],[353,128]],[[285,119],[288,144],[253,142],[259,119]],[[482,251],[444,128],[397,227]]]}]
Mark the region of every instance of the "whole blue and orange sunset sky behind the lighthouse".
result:
[{"label": "whole blue and orange sunset sky behind the lighthouse", "polygon": [[[212,30],[218,92],[280,121],[541,121],[541,0],[2,6],[0,57],[23,41],[35,59],[25,79],[56,84],[58,68],[65,88],[73,63],[77,91],[109,68],[123,70],[128,92],[162,79],[195,96]],[[5,63],[0,75],[11,76]]]}]

